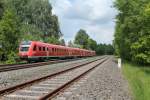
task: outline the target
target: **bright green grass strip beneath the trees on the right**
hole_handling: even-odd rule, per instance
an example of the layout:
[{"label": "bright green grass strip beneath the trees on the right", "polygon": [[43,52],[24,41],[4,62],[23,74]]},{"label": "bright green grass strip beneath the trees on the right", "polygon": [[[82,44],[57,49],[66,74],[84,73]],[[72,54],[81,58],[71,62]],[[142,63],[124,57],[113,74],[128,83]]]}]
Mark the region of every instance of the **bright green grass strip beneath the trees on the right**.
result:
[{"label": "bright green grass strip beneath the trees on the right", "polygon": [[125,62],[123,73],[129,82],[134,100],[150,100],[150,66]]}]

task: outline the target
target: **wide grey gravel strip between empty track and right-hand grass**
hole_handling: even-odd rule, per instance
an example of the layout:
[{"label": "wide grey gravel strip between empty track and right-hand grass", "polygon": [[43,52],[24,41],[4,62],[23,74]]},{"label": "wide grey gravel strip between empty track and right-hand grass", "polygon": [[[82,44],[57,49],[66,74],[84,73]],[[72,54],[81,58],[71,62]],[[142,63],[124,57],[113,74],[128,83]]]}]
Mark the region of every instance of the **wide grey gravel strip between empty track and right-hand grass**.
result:
[{"label": "wide grey gravel strip between empty track and right-hand grass", "polygon": [[131,100],[128,83],[110,57],[53,100]]}]

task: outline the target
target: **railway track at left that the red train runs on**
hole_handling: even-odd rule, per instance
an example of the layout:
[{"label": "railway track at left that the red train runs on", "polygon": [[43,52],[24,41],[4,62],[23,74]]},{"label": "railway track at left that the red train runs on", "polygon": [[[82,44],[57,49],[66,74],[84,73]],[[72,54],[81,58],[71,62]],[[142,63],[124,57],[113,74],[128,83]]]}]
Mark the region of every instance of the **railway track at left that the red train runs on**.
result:
[{"label": "railway track at left that the red train runs on", "polygon": [[0,72],[38,67],[42,65],[49,65],[49,64],[55,64],[55,63],[69,62],[69,61],[74,61],[74,60],[78,60],[78,59],[55,60],[55,61],[39,62],[39,63],[32,63],[32,64],[6,64],[6,65],[0,65]]}]

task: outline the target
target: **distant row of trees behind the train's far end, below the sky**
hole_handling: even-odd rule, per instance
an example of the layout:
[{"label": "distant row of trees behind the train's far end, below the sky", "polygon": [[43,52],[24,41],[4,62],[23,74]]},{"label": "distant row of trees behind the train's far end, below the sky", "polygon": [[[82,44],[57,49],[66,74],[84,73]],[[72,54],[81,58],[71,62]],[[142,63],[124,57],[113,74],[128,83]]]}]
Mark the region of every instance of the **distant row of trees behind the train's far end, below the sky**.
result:
[{"label": "distant row of trees behind the train's far end, below the sky", "polygon": [[79,47],[96,51],[97,55],[113,55],[114,48],[111,44],[98,44],[93,40],[84,29],[80,29],[75,36],[74,41],[69,41],[70,47]]}]

